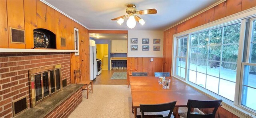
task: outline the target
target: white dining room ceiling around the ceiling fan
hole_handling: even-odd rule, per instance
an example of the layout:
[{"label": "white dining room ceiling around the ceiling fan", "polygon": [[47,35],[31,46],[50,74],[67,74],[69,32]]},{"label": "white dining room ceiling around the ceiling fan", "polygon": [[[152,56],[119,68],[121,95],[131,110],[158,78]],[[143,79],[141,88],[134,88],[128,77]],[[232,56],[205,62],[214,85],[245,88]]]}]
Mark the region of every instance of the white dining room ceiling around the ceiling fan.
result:
[{"label": "white dining room ceiling around the ceiling fan", "polygon": [[218,0],[45,0],[89,29],[127,30],[126,21],[120,26],[112,18],[126,14],[127,4],[138,10],[155,8],[157,14],[139,15],[146,23],[136,23],[135,30],[165,30]]}]

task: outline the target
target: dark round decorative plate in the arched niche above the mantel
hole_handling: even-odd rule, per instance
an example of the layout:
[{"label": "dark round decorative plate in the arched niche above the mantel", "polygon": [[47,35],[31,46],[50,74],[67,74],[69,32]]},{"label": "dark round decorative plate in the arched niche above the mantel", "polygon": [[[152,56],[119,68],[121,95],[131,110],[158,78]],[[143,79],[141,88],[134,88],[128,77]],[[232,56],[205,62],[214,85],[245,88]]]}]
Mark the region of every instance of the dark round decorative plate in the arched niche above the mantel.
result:
[{"label": "dark round decorative plate in the arched niche above the mantel", "polygon": [[34,31],[34,48],[47,48],[48,45],[48,37],[43,32]]}]

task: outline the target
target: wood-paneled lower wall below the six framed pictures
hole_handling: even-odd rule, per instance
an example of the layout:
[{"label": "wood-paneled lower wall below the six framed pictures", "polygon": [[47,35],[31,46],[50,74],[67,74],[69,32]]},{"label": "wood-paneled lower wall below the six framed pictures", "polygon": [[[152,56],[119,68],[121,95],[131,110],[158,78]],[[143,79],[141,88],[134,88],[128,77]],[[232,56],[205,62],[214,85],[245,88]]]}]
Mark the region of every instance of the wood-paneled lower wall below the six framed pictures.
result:
[{"label": "wood-paneled lower wall below the six framed pictures", "polygon": [[[153,61],[150,59],[153,58]],[[163,58],[158,57],[128,57],[127,77],[129,70],[136,69],[137,72],[147,72],[148,76],[154,76],[154,72],[163,72]]]}]

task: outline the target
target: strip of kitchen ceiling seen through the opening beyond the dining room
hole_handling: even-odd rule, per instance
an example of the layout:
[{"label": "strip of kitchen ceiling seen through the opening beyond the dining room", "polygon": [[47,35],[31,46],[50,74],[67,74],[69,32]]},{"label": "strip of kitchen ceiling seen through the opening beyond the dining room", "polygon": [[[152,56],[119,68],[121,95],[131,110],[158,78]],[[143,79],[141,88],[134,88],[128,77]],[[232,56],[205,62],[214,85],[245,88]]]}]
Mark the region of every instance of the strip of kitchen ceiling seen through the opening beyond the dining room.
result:
[{"label": "strip of kitchen ceiling seen through the opening beyond the dining room", "polygon": [[[97,36],[99,36],[99,38],[97,38]],[[94,39],[127,40],[127,34],[90,33],[90,37]]]}]

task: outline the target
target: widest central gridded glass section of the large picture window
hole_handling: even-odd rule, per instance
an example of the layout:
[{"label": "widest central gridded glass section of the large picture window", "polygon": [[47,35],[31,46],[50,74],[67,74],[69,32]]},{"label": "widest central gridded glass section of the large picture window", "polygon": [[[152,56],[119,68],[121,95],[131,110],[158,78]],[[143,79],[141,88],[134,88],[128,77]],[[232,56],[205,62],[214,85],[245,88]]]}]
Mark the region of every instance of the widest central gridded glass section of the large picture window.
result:
[{"label": "widest central gridded glass section of the large picture window", "polygon": [[190,82],[234,101],[240,23],[191,35]]}]

